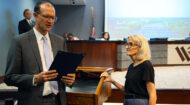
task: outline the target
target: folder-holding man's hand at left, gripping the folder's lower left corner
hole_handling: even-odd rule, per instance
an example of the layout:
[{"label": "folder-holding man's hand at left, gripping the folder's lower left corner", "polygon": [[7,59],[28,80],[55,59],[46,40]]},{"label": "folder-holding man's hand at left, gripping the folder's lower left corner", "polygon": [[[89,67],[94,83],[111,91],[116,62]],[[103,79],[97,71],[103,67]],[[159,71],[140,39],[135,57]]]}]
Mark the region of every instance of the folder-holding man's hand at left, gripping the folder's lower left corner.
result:
[{"label": "folder-holding man's hand at left, gripping the folder's lower left corner", "polygon": [[48,80],[56,78],[58,73],[56,70],[49,70],[49,71],[44,71],[39,74],[34,75],[34,84],[37,83],[43,83]]}]

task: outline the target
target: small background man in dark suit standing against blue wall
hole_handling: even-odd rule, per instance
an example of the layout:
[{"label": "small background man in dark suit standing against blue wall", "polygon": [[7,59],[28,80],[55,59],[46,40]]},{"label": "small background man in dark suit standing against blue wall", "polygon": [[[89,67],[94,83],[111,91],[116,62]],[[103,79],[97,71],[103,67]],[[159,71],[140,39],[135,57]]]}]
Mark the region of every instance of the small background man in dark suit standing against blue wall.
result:
[{"label": "small background man in dark suit standing against blue wall", "polygon": [[34,26],[34,22],[31,20],[32,14],[29,9],[24,10],[23,16],[25,17],[25,19],[19,21],[19,24],[18,24],[19,34],[22,34],[31,30],[32,27]]}]

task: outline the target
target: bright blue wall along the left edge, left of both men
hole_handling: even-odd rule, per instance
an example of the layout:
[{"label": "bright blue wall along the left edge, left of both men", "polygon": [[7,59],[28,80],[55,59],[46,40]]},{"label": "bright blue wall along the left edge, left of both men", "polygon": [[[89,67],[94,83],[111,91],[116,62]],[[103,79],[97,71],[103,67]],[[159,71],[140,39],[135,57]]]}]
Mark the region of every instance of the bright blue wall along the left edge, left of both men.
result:
[{"label": "bright blue wall along the left edge, left of both men", "polygon": [[18,22],[23,19],[23,11],[33,10],[39,0],[0,1],[0,76],[4,75],[6,58],[11,39],[18,34]]}]

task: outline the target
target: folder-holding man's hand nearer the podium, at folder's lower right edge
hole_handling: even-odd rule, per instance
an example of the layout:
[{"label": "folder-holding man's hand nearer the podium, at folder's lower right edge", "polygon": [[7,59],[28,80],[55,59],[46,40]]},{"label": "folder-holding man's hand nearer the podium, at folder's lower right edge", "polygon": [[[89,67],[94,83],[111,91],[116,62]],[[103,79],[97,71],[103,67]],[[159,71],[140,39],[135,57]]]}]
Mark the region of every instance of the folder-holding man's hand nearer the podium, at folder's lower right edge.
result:
[{"label": "folder-holding man's hand nearer the podium, at folder's lower right edge", "polygon": [[61,81],[71,86],[75,82],[75,74],[67,74],[67,76],[62,76]]}]

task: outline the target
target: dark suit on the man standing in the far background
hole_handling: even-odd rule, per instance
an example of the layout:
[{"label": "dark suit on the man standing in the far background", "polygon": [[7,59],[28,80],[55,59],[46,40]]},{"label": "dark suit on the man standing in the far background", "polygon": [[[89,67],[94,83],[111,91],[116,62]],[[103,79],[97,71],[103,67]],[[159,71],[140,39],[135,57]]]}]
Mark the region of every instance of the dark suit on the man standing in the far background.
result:
[{"label": "dark suit on the man standing in the far background", "polygon": [[18,24],[18,31],[19,31],[19,34],[22,34],[22,33],[25,33],[29,30],[32,29],[32,27],[34,26],[34,22],[32,21],[32,25],[30,25],[26,19],[23,19],[21,21],[19,21],[19,24]]}]

